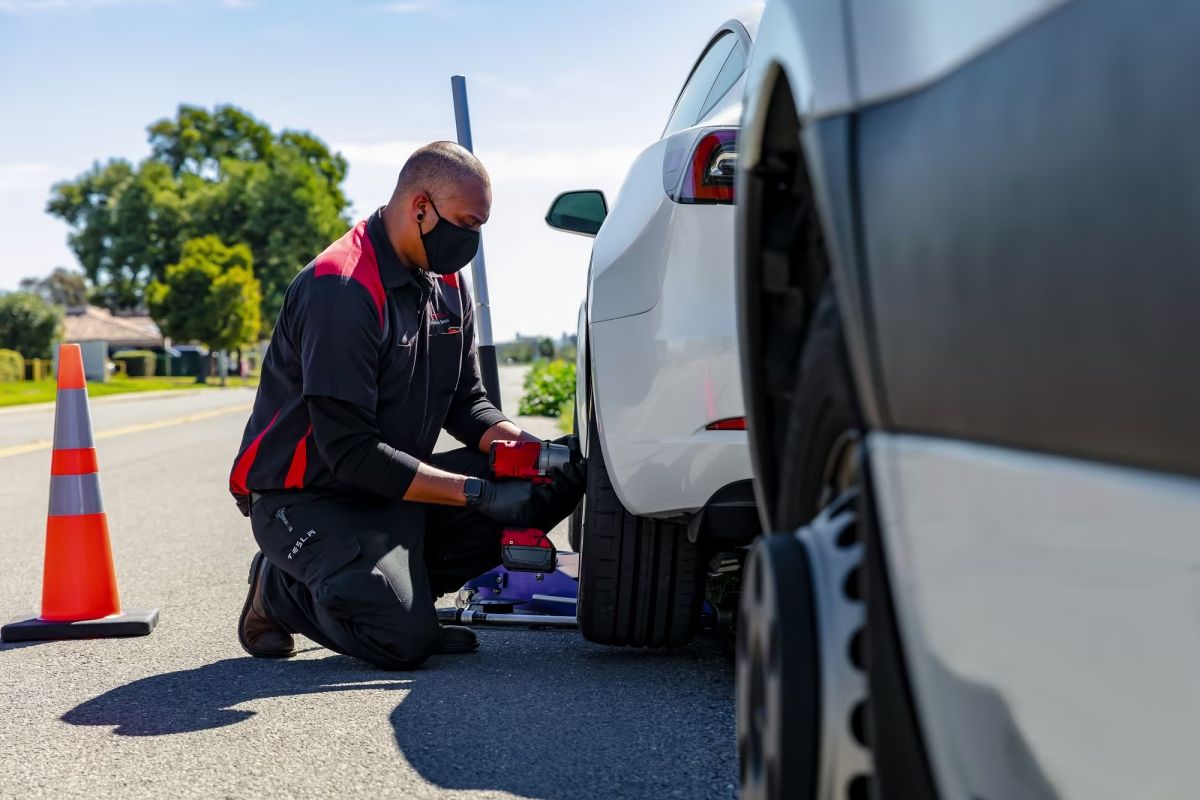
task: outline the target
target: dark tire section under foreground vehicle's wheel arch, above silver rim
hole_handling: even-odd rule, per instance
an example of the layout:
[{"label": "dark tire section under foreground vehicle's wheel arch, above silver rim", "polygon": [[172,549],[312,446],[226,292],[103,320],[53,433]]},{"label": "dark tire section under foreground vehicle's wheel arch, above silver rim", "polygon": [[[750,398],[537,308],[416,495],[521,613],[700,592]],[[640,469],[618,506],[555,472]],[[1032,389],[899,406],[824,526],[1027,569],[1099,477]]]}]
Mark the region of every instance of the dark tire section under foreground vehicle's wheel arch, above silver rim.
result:
[{"label": "dark tire section under foreground vehicle's wheel arch, above silver rim", "polygon": [[[863,429],[833,287],[817,302],[800,356],[796,398],[781,420],[784,457],[770,518],[794,530],[848,488]],[[844,457],[844,458],[842,458]],[[850,461],[846,461],[850,459]],[[836,463],[838,474],[830,474]]]}]

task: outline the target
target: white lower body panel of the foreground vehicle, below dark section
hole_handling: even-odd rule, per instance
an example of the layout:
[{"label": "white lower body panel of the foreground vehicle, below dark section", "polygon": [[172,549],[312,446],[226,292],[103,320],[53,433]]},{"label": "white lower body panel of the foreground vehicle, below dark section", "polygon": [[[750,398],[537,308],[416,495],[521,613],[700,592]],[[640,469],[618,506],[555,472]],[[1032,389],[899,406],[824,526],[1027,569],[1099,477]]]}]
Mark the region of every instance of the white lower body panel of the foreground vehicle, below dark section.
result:
[{"label": "white lower body panel of the foreground vehicle, below dark section", "polygon": [[869,451],[941,796],[1195,796],[1200,480],[902,434]]}]

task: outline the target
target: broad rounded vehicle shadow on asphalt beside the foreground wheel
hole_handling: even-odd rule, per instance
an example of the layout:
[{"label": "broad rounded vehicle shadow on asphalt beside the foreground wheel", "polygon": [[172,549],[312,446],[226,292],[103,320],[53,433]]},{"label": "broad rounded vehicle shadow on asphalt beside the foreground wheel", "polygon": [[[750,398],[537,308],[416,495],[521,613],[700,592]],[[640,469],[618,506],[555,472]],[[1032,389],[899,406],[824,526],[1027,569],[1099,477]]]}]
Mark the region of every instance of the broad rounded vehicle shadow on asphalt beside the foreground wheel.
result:
[{"label": "broad rounded vehicle shadow on asphalt beside the foreground wheel", "polygon": [[737,796],[733,666],[718,642],[654,651],[478,632],[479,654],[422,670],[391,715],[431,783],[545,800]]}]

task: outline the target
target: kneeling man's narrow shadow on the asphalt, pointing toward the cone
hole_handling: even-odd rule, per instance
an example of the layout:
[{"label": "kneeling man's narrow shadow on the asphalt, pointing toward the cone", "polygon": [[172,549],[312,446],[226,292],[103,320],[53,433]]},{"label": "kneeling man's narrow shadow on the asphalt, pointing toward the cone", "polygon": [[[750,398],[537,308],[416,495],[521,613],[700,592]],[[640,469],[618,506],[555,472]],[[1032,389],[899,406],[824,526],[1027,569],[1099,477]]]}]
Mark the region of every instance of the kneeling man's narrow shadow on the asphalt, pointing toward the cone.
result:
[{"label": "kneeling man's narrow shadow on the asphalt, pointing toward the cone", "polygon": [[122,736],[161,736],[223,728],[254,716],[235,708],[268,697],[408,688],[407,678],[374,673],[335,656],[320,661],[226,658],[196,669],[142,678],[118,686],[62,715],[71,724],[113,726]]}]

